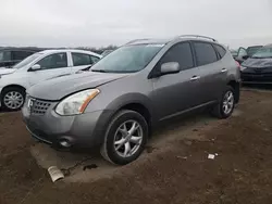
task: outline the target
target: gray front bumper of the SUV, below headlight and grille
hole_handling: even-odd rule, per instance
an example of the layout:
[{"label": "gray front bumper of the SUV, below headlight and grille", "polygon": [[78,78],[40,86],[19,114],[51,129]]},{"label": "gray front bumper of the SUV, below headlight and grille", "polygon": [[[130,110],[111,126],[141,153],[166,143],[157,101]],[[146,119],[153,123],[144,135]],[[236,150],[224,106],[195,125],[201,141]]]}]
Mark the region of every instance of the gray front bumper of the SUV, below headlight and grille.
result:
[{"label": "gray front bumper of the SUV, below headlight and grille", "polygon": [[112,111],[96,111],[74,116],[60,116],[53,104],[41,114],[29,113],[22,109],[23,119],[30,135],[53,148],[63,148],[61,141],[67,141],[70,148],[95,148],[103,142],[107,124]]}]

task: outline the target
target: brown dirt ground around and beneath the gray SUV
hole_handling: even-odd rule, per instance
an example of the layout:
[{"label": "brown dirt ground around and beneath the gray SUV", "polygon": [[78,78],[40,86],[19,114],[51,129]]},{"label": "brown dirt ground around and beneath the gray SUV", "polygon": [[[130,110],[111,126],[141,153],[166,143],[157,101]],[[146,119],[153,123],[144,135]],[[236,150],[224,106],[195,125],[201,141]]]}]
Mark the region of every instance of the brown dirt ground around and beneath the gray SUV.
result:
[{"label": "brown dirt ground around and beneath the gray SUV", "polygon": [[[244,90],[226,120],[208,114],[175,119],[133,164],[115,167],[95,158],[97,168],[83,176],[79,166],[52,183],[48,160],[40,161],[52,150],[35,143],[20,113],[0,113],[0,204],[271,204],[271,118],[272,92]],[[55,154],[49,161],[65,153]]]}]

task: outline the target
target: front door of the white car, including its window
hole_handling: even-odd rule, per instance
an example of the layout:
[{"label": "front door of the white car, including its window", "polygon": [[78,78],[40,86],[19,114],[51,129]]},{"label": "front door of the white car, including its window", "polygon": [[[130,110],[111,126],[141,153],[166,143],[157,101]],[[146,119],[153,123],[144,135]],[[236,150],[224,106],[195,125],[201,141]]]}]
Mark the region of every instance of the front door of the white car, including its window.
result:
[{"label": "front door of the white car, including its window", "polygon": [[28,69],[28,79],[30,86],[42,80],[71,74],[71,67],[69,67],[66,52],[47,55],[36,64],[40,65],[40,69]]}]

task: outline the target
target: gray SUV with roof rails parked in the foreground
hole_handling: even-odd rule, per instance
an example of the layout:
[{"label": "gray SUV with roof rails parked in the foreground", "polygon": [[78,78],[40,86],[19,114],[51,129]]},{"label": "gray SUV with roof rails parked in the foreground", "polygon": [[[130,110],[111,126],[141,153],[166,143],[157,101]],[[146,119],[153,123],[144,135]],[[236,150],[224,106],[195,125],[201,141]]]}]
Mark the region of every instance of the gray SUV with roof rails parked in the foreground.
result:
[{"label": "gray SUV with roof rails parked in the foreground", "polygon": [[22,112],[34,138],[70,150],[100,146],[106,160],[125,165],[163,120],[202,107],[228,117],[239,82],[232,54],[214,39],[134,40],[90,72],[29,88]]}]

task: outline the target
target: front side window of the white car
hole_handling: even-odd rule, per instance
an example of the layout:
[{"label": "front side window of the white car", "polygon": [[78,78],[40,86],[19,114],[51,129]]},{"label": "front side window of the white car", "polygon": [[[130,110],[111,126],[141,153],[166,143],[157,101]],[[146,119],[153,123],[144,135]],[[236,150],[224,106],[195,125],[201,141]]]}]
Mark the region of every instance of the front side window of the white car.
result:
[{"label": "front side window of the white car", "polygon": [[66,53],[51,54],[40,60],[37,64],[42,69],[67,67],[67,55]]}]

